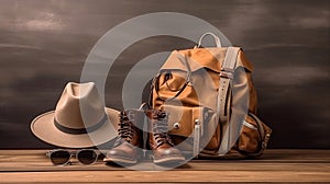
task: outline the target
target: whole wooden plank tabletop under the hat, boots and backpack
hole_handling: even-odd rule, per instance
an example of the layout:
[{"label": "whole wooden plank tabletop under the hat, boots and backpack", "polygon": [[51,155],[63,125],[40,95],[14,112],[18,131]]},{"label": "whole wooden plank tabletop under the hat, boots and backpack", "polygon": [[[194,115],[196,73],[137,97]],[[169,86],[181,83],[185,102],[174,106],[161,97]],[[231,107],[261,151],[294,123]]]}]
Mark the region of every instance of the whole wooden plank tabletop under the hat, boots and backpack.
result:
[{"label": "whole wooden plank tabletop under the hat, boots and backpack", "polygon": [[255,160],[193,160],[167,171],[146,162],[148,171],[105,164],[54,166],[47,150],[0,150],[1,183],[330,183],[330,150],[266,150]]}]

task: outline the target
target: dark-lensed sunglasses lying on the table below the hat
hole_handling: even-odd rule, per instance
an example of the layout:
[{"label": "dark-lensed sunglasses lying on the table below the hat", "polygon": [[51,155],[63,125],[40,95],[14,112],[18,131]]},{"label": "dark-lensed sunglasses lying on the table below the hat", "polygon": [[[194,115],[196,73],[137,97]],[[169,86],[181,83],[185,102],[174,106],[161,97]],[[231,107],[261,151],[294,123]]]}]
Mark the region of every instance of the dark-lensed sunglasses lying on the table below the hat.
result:
[{"label": "dark-lensed sunglasses lying on the table below the hat", "polygon": [[78,151],[68,151],[65,149],[55,149],[46,153],[54,165],[66,165],[70,163],[72,157],[76,157],[82,164],[94,164],[99,157],[99,152],[94,149],[81,149]]}]

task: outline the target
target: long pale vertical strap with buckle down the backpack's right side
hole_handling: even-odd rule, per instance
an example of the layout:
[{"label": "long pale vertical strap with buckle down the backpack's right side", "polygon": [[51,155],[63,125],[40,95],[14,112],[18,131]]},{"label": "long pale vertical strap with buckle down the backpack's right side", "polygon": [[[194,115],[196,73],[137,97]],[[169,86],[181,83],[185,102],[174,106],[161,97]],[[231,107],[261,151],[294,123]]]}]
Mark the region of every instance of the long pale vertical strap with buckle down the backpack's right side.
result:
[{"label": "long pale vertical strap with buckle down the backpack's right side", "polygon": [[220,120],[221,135],[228,131],[228,135],[222,137],[218,153],[224,154],[230,150],[230,101],[231,101],[231,89],[234,69],[237,66],[237,58],[240,51],[240,47],[228,47],[224,60],[222,62],[220,72],[220,82],[217,101],[217,116]]}]

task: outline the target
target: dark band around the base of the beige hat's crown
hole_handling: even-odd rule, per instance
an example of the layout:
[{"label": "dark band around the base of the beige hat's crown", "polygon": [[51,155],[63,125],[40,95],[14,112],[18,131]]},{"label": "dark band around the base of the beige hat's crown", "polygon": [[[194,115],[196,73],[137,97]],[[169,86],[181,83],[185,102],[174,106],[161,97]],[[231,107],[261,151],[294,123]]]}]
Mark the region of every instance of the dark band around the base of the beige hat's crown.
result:
[{"label": "dark band around the base of the beige hat's crown", "polygon": [[96,125],[88,127],[88,128],[68,128],[68,127],[61,125],[55,118],[54,118],[54,125],[61,131],[64,131],[67,134],[79,135],[79,134],[88,134],[88,133],[99,129],[107,122],[107,119],[108,119],[108,116],[107,116],[107,114],[105,114],[105,116],[102,117],[102,119],[99,123],[97,123]]}]

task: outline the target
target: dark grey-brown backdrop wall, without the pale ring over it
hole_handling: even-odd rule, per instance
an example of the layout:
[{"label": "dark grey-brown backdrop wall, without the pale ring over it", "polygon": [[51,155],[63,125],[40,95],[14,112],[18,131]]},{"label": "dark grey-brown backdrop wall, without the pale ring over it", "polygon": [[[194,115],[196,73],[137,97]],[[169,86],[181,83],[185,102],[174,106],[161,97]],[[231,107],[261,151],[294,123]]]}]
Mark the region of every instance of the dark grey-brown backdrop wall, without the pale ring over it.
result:
[{"label": "dark grey-brown backdrop wall, without the pale ring over it", "polygon": [[[330,147],[328,0],[0,0],[0,148],[50,147],[30,133],[31,120],[55,107],[66,82],[79,81],[105,33],[158,11],[204,19],[245,49],[272,148]],[[121,82],[135,61],[193,45],[177,37],[132,45],[108,77],[107,105],[121,108]]]}]

